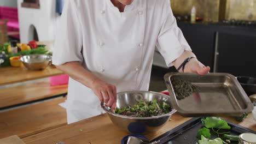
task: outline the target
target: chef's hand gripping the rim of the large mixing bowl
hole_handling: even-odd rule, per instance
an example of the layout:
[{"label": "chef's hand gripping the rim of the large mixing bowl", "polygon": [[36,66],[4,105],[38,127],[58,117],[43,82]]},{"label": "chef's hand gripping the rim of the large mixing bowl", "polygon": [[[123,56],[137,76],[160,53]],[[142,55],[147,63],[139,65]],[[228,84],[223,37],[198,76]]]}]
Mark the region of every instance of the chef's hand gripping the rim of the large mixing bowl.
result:
[{"label": "chef's hand gripping the rim of the large mixing bowl", "polygon": [[100,101],[104,102],[106,106],[111,107],[112,110],[117,106],[117,88],[114,85],[96,80],[92,84],[92,91],[97,95]]}]

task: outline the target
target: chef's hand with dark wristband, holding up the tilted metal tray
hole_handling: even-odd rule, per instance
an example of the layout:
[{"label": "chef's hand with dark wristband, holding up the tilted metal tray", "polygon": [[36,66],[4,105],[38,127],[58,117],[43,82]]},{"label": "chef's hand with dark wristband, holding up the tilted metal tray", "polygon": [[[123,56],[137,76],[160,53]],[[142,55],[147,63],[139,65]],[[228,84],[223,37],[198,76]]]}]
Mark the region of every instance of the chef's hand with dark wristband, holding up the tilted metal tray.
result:
[{"label": "chef's hand with dark wristband, holding up the tilted metal tray", "polygon": [[197,73],[200,75],[205,75],[209,73],[210,67],[205,67],[196,58],[190,59],[190,61],[185,65],[184,73]]}]

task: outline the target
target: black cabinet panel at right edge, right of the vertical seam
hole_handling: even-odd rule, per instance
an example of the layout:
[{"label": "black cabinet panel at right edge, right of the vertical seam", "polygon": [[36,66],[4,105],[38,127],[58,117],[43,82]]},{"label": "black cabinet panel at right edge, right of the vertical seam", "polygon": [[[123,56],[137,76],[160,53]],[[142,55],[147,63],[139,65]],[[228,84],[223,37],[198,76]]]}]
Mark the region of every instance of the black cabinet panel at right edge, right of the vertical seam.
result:
[{"label": "black cabinet panel at right edge, right of the vertical seam", "polygon": [[217,72],[256,77],[255,32],[219,32],[217,49]]}]

